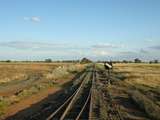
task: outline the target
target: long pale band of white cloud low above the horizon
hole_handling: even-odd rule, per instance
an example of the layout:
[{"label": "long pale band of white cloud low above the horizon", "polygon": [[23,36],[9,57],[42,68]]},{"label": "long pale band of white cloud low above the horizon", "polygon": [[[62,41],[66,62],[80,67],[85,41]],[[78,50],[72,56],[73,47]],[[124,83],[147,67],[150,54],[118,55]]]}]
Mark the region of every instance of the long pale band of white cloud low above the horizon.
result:
[{"label": "long pale band of white cloud low above the horizon", "polygon": [[[78,58],[78,57],[93,57],[93,58],[121,58],[134,59],[138,58],[153,58],[160,57],[160,46],[151,46],[148,49],[106,49],[115,47],[115,45],[104,44],[93,45],[74,45],[72,43],[47,43],[47,42],[29,42],[29,41],[10,41],[0,42],[0,58],[30,58],[37,57],[53,57],[53,58]],[[8,49],[9,48],[9,49]],[[157,50],[157,52],[150,52],[150,50]],[[3,51],[2,51],[3,50]]]}]

